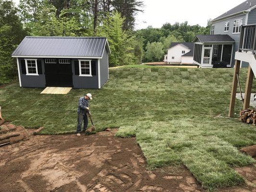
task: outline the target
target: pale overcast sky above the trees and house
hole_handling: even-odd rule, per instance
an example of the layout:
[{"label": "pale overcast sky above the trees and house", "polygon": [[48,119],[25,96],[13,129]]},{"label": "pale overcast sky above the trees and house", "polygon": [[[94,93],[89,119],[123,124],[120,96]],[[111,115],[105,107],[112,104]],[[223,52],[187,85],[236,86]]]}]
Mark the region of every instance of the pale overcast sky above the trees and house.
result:
[{"label": "pale overcast sky above the trees and house", "polygon": [[[13,0],[16,4],[19,0]],[[135,29],[151,25],[161,27],[165,23],[185,22],[201,26],[208,19],[214,19],[245,0],[143,0],[144,12],[136,15]]]}]

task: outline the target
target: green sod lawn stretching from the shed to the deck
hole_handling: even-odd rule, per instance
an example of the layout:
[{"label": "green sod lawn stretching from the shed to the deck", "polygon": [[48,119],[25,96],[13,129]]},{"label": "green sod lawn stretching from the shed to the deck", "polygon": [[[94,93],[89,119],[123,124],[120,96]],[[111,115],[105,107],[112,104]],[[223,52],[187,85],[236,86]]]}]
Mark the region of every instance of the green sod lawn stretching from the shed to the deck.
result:
[{"label": "green sod lawn stretching from the shed to the deck", "polygon": [[[244,89],[247,69],[241,71]],[[120,127],[118,136],[136,135],[148,168],[184,164],[204,187],[244,183],[233,169],[254,163],[238,148],[256,144],[256,128],[227,115],[233,69],[179,69],[127,66],[110,70],[100,90],[72,90],[68,95],[40,95],[42,89],[12,84],[0,89],[2,115],[43,133],[75,130],[80,96],[90,102],[98,131]],[[254,91],[256,91],[254,84]],[[236,113],[242,105],[236,102]]]}]

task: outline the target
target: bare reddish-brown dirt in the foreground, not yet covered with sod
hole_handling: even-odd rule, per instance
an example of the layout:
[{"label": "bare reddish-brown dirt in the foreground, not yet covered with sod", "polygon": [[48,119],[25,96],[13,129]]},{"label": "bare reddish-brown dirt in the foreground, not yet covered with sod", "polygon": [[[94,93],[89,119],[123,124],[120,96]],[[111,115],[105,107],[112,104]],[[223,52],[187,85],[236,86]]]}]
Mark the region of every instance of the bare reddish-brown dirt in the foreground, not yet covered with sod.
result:
[{"label": "bare reddish-brown dirt in the foreground, not yet covered with sod", "polygon": [[[0,147],[0,192],[205,192],[183,166],[148,171],[135,138],[115,132],[37,135]],[[253,192],[256,168],[249,168],[238,169],[248,185],[220,191]]]}]

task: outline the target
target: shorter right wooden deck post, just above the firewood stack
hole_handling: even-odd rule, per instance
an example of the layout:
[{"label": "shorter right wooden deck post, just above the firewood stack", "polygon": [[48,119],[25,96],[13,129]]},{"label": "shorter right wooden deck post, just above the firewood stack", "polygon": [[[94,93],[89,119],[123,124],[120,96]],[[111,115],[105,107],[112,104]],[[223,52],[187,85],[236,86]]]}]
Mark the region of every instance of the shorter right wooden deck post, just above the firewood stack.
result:
[{"label": "shorter right wooden deck post, just above the firewood stack", "polygon": [[253,86],[253,77],[254,77],[253,70],[252,70],[251,66],[249,65],[248,72],[247,72],[247,80],[246,80],[246,85],[245,85],[243,109],[249,108],[249,106],[250,106],[252,86]]}]

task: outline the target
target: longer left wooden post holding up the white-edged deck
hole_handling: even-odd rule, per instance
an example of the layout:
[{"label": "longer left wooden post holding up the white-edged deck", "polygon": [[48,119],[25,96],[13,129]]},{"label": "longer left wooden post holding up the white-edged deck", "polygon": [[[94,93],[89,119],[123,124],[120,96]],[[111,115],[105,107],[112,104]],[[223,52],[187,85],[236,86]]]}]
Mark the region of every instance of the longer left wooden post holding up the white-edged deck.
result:
[{"label": "longer left wooden post holding up the white-edged deck", "polygon": [[234,107],[235,107],[235,98],[236,98],[236,90],[237,90],[237,74],[239,74],[240,70],[240,60],[235,60],[235,71],[233,75],[233,82],[232,82],[232,90],[231,90],[231,98],[230,98],[230,106],[229,106],[229,117],[234,117]]}]

